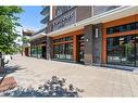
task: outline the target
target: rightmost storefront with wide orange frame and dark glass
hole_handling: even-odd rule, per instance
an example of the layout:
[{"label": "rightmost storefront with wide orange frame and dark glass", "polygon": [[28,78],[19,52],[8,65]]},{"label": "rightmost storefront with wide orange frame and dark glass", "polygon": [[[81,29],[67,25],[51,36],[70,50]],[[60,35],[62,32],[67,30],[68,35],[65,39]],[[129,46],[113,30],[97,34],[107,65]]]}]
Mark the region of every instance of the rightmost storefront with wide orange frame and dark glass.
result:
[{"label": "rightmost storefront with wide orange frame and dark glass", "polygon": [[138,66],[138,15],[103,24],[102,62]]}]

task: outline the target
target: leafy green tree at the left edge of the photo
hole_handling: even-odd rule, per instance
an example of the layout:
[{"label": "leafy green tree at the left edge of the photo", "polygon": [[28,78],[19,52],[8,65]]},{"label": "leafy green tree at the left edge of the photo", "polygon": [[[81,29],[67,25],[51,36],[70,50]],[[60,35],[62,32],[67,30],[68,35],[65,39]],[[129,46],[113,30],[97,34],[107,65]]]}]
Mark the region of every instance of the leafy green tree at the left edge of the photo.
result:
[{"label": "leafy green tree at the left edge of the photo", "polygon": [[0,7],[0,52],[11,54],[15,51],[16,27],[21,26],[17,14],[22,12],[20,7]]}]

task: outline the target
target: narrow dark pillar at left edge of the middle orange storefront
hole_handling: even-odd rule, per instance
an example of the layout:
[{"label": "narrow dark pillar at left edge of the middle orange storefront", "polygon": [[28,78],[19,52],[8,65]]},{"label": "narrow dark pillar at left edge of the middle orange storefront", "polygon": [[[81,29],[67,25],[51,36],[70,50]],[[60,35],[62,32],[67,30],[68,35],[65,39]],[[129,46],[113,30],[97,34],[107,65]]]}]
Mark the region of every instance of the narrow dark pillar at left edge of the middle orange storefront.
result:
[{"label": "narrow dark pillar at left edge of the middle orange storefront", "polygon": [[52,38],[47,37],[47,60],[53,59]]}]

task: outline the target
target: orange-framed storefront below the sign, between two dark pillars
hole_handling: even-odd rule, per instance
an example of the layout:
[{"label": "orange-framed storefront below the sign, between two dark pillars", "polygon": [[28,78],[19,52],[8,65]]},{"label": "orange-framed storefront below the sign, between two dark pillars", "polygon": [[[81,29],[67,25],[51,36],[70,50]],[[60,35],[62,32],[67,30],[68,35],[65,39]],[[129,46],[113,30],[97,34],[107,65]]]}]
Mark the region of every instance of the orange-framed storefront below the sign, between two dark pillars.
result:
[{"label": "orange-framed storefront below the sign, between two dark pillars", "polygon": [[53,59],[84,62],[84,30],[52,38]]}]

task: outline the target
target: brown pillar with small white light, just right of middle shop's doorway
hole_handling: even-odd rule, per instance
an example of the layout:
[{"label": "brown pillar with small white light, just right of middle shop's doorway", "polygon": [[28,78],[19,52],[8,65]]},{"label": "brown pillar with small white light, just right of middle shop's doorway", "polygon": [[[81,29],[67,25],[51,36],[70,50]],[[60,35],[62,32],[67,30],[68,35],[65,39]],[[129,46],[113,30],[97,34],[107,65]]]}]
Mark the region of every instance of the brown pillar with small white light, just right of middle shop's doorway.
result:
[{"label": "brown pillar with small white light, just right of middle shop's doorway", "polygon": [[85,64],[92,64],[92,25],[85,27]]}]

